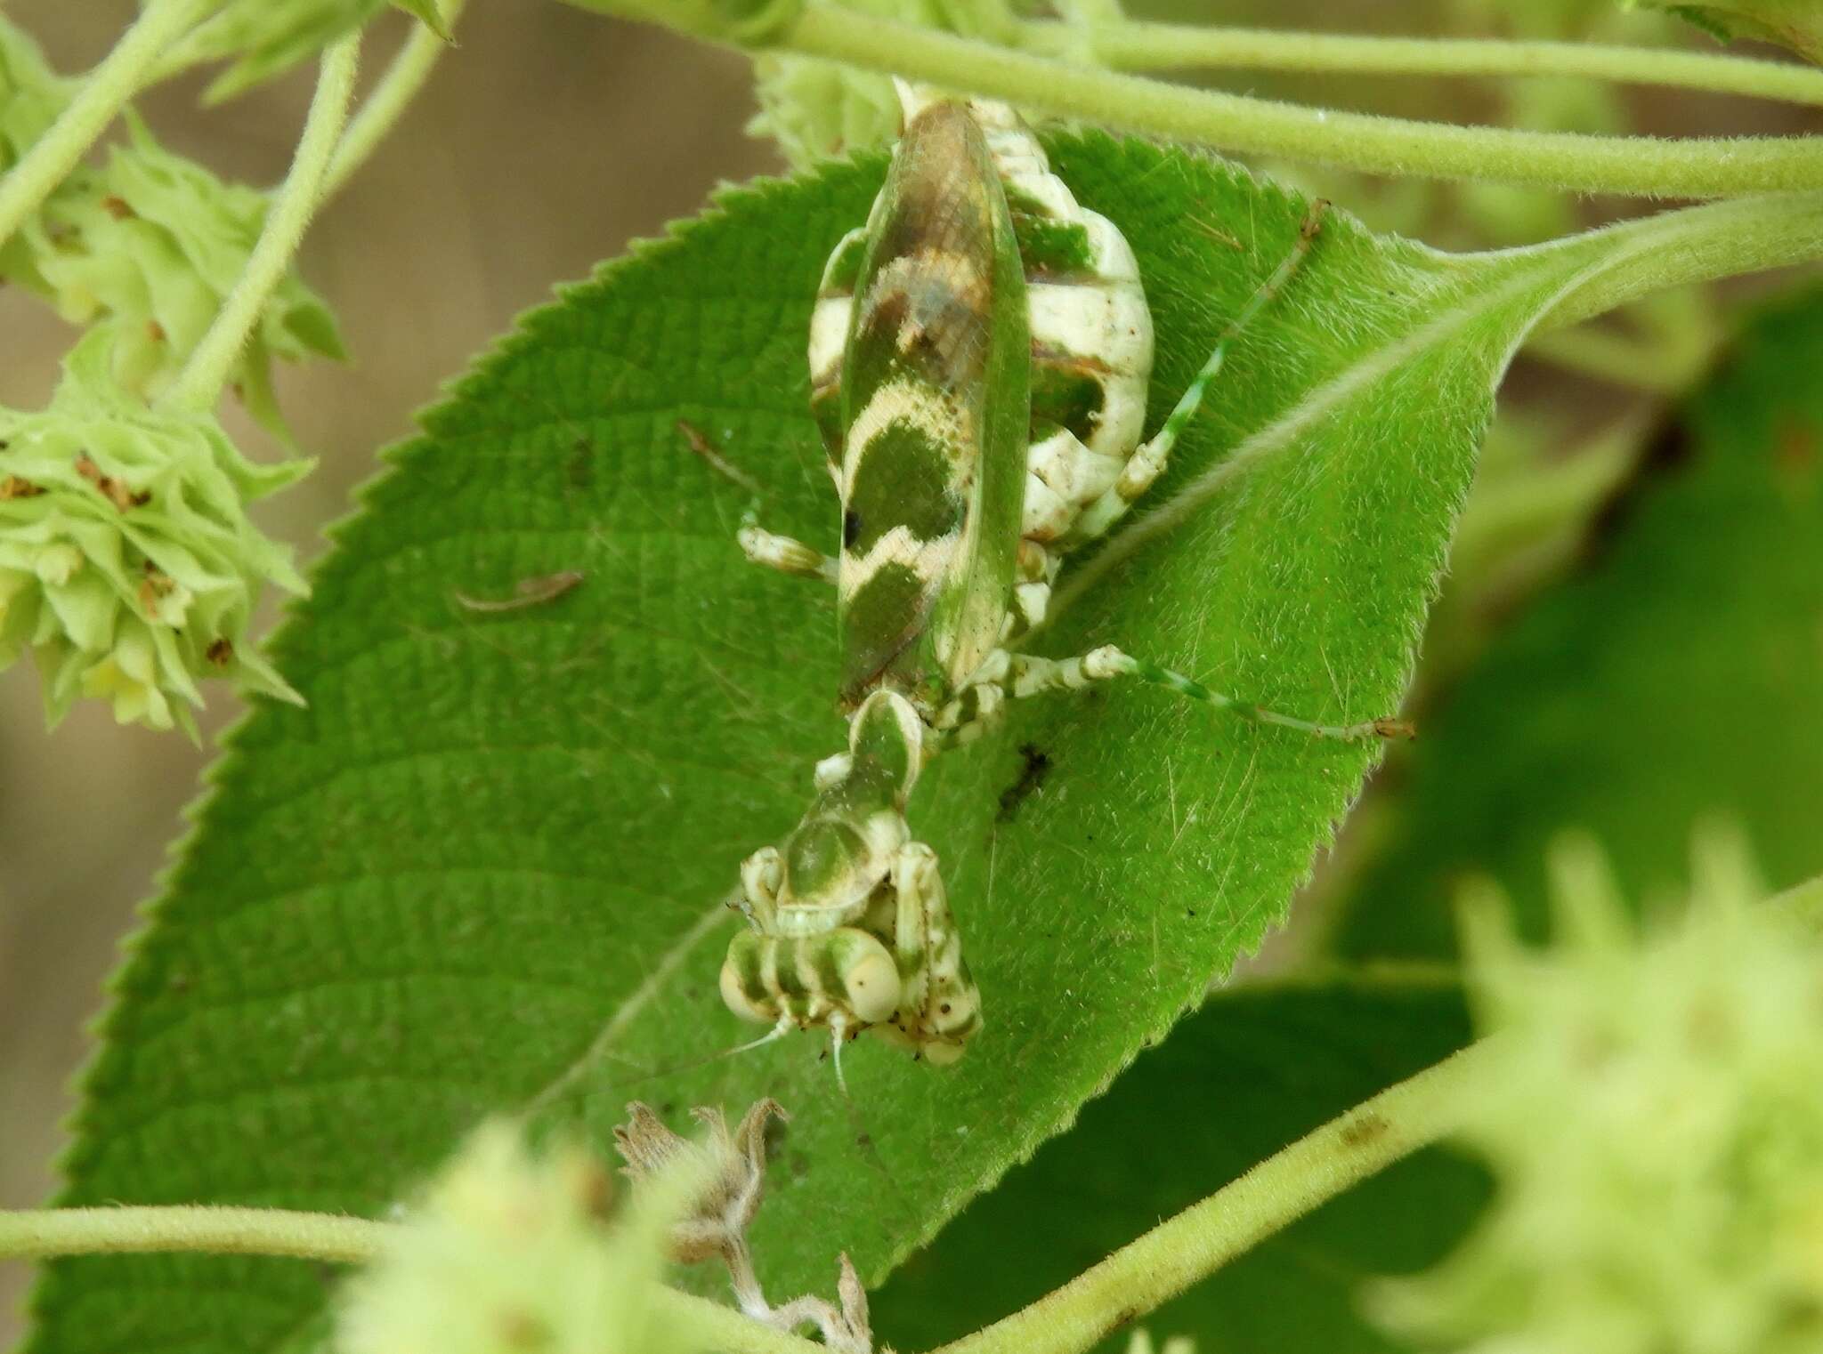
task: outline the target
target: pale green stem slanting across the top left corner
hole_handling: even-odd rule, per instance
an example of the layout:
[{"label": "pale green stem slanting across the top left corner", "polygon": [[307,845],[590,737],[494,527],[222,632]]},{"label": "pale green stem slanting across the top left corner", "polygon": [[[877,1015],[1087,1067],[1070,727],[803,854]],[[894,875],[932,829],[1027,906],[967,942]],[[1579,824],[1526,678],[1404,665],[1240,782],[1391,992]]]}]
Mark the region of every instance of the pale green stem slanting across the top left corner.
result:
[{"label": "pale green stem slanting across the top left corner", "polygon": [[159,55],[219,4],[221,0],[153,0],[146,5],[139,22],[89,71],[51,129],[0,179],[0,244],[13,239],[64,182],[84,151],[126,108]]}]

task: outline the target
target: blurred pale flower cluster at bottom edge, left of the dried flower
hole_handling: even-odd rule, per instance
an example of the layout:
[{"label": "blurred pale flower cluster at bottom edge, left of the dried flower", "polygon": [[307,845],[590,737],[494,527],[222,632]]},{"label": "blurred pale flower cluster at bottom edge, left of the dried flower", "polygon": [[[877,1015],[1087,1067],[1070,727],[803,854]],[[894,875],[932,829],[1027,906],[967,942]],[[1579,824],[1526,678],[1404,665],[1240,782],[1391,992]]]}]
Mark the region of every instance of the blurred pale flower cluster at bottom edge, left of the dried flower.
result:
[{"label": "blurred pale flower cluster at bottom edge, left of the dried flower", "polygon": [[665,1232],[695,1181],[611,1208],[580,1148],[479,1130],[345,1292],[339,1354],[685,1354],[654,1307]]}]

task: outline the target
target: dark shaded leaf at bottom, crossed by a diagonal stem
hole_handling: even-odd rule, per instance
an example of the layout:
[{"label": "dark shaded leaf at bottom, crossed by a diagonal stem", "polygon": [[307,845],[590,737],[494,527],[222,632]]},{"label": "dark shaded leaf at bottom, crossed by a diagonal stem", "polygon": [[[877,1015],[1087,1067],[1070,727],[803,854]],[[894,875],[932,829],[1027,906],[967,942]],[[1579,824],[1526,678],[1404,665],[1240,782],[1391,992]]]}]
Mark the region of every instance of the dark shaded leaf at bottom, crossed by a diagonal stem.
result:
[{"label": "dark shaded leaf at bottom, crossed by a diagonal stem", "polygon": [[[895,1274],[873,1299],[875,1328],[901,1349],[933,1349],[1006,1316],[1466,1041],[1453,984],[1221,993]],[[1422,1152],[1138,1325],[1220,1354],[1384,1354],[1393,1345],[1360,1319],[1354,1290],[1437,1263],[1486,1194],[1480,1168]],[[1121,1332],[1101,1349],[1125,1343]]]}]

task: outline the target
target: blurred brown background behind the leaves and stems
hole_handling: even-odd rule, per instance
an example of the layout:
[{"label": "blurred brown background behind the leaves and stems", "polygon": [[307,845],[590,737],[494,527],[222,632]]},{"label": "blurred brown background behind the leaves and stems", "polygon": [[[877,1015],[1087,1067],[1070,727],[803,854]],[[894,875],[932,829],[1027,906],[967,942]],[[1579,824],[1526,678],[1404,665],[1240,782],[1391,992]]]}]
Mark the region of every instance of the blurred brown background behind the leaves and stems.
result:
[{"label": "blurred brown background behind the leaves and stems", "polygon": [[[1515,36],[1544,36],[1529,16],[1564,9],[1539,0],[1156,0],[1130,7],[1203,22],[1307,20],[1331,31]],[[1644,26],[1604,36],[1666,31],[1659,20],[1615,20],[1599,0],[1591,7],[1608,16],[1604,26]],[[135,9],[135,0],[7,4],[7,15],[64,71],[100,56]],[[377,26],[365,53],[368,78],[403,33],[399,16]],[[284,173],[310,80],[308,69],[297,71],[222,109],[201,111],[202,78],[190,78],[157,89],[142,111],[173,149],[224,177],[272,184]],[[1502,106],[1499,93],[1471,82],[1345,84],[1240,73],[1221,84],[1409,117],[1517,117],[1539,126],[1535,106]],[[742,135],[751,108],[747,66],[729,53],[554,0],[472,0],[461,46],[306,241],[303,275],[341,317],[354,361],[277,372],[292,426],[321,468],[266,505],[266,527],[295,543],[304,561],[315,558],[323,523],[346,510],[348,488],[372,474],[374,450],[405,434],[410,412],[516,313],[631,237],[695,211],[716,182],[778,171],[777,155]],[[1688,93],[1628,91],[1624,109],[1635,126],[1661,133],[1818,129],[1814,109]],[[1400,221],[1398,204],[1369,199],[1367,184],[1349,191],[1327,180],[1325,188],[1380,224]],[[1593,221],[1610,210],[1639,208],[1581,202],[1573,213]],[[1407,228],[1433,242],[1468,242],[1449,200],[1442,215],[1427,208],[1415,215],[1407,202],[1404,219],[1416,217],[1426,221]],[[42,405],[69,339],[40,303],[0,292],[0,401]],[[1559,405],[1612,399],[1590,383],[1568,394],[1557,381],[1546,388]],[[226,692],[213,698],[206,731],[233,716]],[[80,705],[47,736],[36,674],[26,665],[0,676],[0,1206],[33,1206],[51,1190],[84,1024],[100,1008],[100,984],[133,928],[135,904],[151,893],[166,844],[182,831],[180,809],[195,796],[206,760],[177,734],[115,727],[95,705]],[[0,1347],[16,1334],[26,1279],[24,1267],[0,1265]]]}]

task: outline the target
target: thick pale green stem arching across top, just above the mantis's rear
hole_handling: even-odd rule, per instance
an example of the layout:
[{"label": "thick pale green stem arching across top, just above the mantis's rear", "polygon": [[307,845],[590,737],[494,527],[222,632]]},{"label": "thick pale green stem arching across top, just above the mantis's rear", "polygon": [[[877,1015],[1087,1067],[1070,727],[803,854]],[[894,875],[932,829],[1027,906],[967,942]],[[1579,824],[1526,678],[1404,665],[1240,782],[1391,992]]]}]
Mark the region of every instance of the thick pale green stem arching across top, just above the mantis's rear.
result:
[{"label": "thick pale green stem arching across top, just above the mantis's rear", "polygon": [[[665,0],[571,4],[704,35],[700,22],[680,22]],[[733,40],[738,35],[711,36]],[[1823,137],[1586,137],[1302,108],[1072,66],[873,18],[828,0],[804,0],[795,15],[767,29],[766,49],[890,71],[1110,128],[1367,173],[1632,197],[1741,197],[1823,188]]]}]

